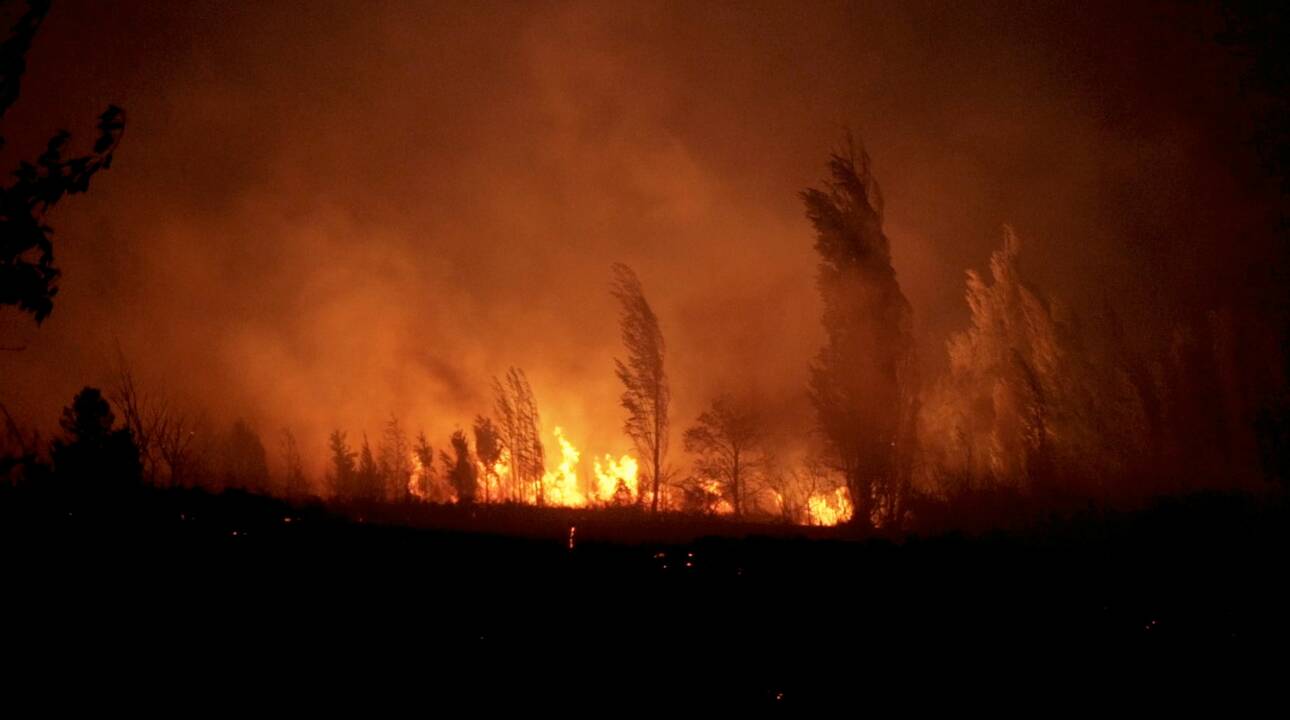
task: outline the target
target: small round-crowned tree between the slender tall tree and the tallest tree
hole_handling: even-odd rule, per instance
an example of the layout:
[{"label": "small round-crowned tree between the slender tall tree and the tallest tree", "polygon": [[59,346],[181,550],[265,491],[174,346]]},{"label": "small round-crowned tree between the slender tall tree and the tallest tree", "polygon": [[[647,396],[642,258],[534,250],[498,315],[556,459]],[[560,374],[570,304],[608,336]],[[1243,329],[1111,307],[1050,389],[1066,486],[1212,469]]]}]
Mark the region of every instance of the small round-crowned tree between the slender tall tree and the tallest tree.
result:
[{"label": "small round-crowned tree between the slender tall tree and the tallest tree", "polygon": [[722,394],[685,431],[684,439],[685,452],[698,455],[694,465],[699,476],[715,480],[734,514],[742,516],[747,510],[748,481],[761,465],[761,426],[752,405]]}]

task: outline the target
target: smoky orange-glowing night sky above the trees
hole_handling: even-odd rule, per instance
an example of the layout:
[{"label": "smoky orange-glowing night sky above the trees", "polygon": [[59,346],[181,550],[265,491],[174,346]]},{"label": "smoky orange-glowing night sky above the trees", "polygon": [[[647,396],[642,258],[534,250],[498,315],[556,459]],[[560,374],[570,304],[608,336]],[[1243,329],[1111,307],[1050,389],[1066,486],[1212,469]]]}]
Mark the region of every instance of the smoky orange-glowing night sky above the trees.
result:
[{"label": "smoky orange-glowing night sky above the trees", "polygon": [[[0,401],[49,426],[120,343],[141,381],[307,454],[390,413],[442,437],[528,370],[622,452],[608,268],[668,339],[673,426],[721,388],[810,418],[797,192],[850,126],[882,183],[924,363],[1010,223],[1024,267],[1136,334],[1258,302],[1275,206],[1242,61],[1206,5],[58,1],[5,165],[128,112],[50,218],[39,330],[0,314]],[[679,446],[679,441],[673,440]]]}]

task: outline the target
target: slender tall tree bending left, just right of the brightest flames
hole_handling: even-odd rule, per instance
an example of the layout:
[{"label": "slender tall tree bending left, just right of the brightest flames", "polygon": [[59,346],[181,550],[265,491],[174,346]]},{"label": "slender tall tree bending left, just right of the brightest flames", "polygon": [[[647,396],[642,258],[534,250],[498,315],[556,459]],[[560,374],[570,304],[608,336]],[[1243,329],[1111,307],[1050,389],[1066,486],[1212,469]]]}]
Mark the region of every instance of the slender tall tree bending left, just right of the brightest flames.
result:
[{"label": "slender tall tree bending left, just right of the brightest flames", "polygon": [[[667,405],[671,394],[663,369],[663,332],[658,316],[645,299],[645,292],[632,268],[613,266],[609,293],[619,303],[619,328],[627,361],[614,359],[614,372],[623,383],[620,403],[627,410],[623,430],[632,439],[649,476],[650,511],[658,512],[659,483],[667,458]],[[641,485],[644,493],[646,485]],[[639,497],[637,502],[642,498]]]}]

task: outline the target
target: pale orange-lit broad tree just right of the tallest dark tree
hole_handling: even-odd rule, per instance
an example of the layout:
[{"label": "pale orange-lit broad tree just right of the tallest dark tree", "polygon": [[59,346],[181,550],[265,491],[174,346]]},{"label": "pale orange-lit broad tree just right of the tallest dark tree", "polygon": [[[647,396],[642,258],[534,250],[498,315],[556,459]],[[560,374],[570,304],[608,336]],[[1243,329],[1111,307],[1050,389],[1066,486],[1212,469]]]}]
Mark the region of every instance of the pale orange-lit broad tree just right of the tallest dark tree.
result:
[{"label": "pale orange-lit broad tree just right of the tallest dark tree", "polygon": [[988,485],[1066,493],[1081,481],[1104,493],[1155,435],[1147,381],[1133,382],[1147,373],[1091,352],[1073,316],[1023,279],[1020,249],[1005,227],[989,276],[968,272],[971,326],[949,339],[949,372],[922,413],[929,465],[951,495]]}]

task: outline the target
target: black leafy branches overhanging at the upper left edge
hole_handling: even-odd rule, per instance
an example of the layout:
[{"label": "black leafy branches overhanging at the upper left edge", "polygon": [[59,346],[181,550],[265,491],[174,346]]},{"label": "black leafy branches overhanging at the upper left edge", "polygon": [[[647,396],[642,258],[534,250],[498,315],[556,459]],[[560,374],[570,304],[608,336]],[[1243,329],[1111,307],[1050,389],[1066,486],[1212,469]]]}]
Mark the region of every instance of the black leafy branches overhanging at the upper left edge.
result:
[{"label": "black leafy branches overhanging at the upper left edge", "polygon": [[[0,119],[18,99],[27,50],[48,13],[49,0],[27,0],[27,12],[0,43]],[[124,130],[125,114],[108,106],[99,115],[99,137],[89,155],[64,157],[71,134],[59,130],[35,164],[21,163],[13,183],[0,187],[0,306],[30,312],[36,324],[53,311],[59,271],[45,217],[64,196],[89,190],[95,173],[111,168]]]}]

